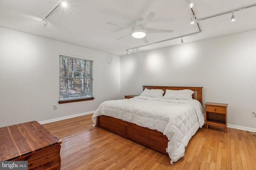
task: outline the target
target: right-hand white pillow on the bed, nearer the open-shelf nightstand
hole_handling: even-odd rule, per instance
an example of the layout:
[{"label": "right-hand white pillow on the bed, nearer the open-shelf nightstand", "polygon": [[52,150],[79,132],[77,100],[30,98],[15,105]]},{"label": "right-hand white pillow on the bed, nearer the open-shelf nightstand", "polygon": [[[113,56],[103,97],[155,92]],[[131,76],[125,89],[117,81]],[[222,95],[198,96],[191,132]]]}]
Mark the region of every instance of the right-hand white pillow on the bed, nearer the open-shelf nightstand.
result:
[{"label": "right-hand white pillow on the bed, nearer the open-shelf nightstand", "polygon": [[189,90],[189,89],[184,89],[184,90],[168,90],[168,89],[166,89],[166,92],[162,98],[192,100],[193,93],[194,93],[194,91]]}]

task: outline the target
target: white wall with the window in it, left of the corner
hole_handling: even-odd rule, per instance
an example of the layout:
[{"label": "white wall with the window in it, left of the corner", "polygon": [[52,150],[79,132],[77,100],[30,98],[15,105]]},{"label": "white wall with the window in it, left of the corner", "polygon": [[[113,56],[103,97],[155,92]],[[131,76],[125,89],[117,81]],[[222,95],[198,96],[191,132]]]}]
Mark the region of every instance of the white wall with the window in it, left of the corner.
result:
[{"label": "white wall with the window in it, left of the corner", "polygon": [[[94,100],[58,104],[59,53],[94,60]],[[119,56],[0,27],[0,127],[92,112],[119,98]]]}]

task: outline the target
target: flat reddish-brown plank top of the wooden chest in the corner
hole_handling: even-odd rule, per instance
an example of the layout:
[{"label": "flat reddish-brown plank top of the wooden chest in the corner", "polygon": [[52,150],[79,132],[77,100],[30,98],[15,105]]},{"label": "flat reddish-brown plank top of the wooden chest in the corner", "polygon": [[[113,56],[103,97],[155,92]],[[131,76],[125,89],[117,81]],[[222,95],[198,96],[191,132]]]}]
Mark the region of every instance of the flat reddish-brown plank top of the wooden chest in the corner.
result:
[{"label": "flat reddish-brown plank top of the wooden chest in the corner", "polygon": [[57,143],[53,133],[37,121],[0,128],[0,161],[12,160]]}]

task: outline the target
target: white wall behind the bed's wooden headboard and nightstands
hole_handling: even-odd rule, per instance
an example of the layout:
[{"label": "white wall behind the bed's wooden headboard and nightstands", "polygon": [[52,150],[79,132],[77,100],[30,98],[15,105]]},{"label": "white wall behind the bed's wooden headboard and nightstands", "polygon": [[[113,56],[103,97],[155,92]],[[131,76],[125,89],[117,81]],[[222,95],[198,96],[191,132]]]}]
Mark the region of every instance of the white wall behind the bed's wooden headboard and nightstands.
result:
[{"label": "white wall behind the bed's wooden headboard and nightstands", "polygon": [[[121,95],[142,85],[202,86],[203,103],[228,104],[228,126],[256,129],[256,31],[121,57]],[[246,128],[244,128],[246,127]]]}]

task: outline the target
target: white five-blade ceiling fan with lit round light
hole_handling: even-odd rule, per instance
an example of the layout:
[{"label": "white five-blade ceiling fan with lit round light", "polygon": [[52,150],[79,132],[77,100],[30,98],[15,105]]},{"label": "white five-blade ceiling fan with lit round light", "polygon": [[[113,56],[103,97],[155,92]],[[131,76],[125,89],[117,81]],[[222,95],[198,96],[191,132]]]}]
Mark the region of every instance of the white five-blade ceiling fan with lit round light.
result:
[{"label": "white five-blade ceiling fan with lit round light", "polygon": [[[144,41],[144,43],[148,43],[148,40],[146,38],[146,34],[148,34],[148,33],[172,33],[173,32],[173,30],[169,30],[169,29],[147,28],[146,26],[148,25],[148,23],[154,17],[155,14],[156,13],[154,13],[154,12],[150,12],[148,14],[148,16],[146,16],[146,18],[144,18],[144,19],[140,18],[138,21],[135,21],[135,25],[132,26],[132,27],[127,27],[127,26],[112,23],[112,22],[108,22],[107,24],[116,25],[116,26],[119,26],[119,27],[131,29],[131,33],[129,33],[128,35],[125,35],[124,37],[132,35],[132,37],[141,38]],[[118,38],[117,40],[122,39],[124,37]]]}]

